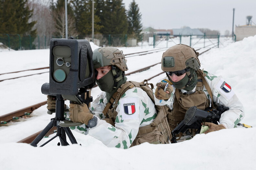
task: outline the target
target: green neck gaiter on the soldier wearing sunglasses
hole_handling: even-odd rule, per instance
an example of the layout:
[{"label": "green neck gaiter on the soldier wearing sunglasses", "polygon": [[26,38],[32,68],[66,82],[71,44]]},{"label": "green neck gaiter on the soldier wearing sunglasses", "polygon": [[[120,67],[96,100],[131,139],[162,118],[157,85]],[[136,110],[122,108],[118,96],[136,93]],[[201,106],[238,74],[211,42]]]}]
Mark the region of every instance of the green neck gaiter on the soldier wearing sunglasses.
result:
[{"label": "green neck gaiter on the soldier wearing sunglasses", "polygon": [[[195,85],[196,85],[196,80],[197,80],[197,74],[195,72],[194,69],[190,69],[190,74],[192,75],[192,80],[189,82],[189,77],[188,75],[185,75],[185,77],[183,79],[181,79],[178,82],[173,82],[170,77],[169,80],[173,83],[173,85],[177,88],[177,89],[184,89],[187,91],[191,91]],[[188,85],[186,87],[186,85]]]}]

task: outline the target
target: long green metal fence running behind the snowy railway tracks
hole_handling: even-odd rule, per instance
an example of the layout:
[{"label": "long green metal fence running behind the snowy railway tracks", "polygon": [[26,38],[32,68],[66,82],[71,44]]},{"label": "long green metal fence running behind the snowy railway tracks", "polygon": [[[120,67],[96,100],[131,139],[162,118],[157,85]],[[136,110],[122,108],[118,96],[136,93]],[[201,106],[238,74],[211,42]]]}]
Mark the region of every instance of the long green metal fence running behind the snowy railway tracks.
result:
[{"label": "long green metal fence running behind the snowy railway tracks", "polygon": [[[19,35],[19,34],[0,34],[0,43],[14,50],[48,49],[51,38],[61,38],[52,35]],[[75,37],[77,39],[87,39],[92,41],[92,36]],[[96,34],[94,43],[98,46],[149,46],[170,47],[176,44],[185,44],[192,47],[206,47],[209,45],[219,46],[219,35],[157,35],[141,34],[139,37],[127,34]]]}]

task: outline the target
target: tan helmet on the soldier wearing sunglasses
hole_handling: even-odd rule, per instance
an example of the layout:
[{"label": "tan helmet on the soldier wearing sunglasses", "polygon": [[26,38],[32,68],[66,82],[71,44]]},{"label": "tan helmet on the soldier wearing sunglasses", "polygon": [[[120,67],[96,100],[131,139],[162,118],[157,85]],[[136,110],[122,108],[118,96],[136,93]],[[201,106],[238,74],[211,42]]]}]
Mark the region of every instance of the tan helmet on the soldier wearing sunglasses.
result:
[{"label": "tan helmet on the soldier wearing sunglasses", "polygon": [[188,45],[174,45],[163,53],[161,69],[165,72],[184,70],[187,67],[198,70],[201,65],[198,55],[199,53]]}]

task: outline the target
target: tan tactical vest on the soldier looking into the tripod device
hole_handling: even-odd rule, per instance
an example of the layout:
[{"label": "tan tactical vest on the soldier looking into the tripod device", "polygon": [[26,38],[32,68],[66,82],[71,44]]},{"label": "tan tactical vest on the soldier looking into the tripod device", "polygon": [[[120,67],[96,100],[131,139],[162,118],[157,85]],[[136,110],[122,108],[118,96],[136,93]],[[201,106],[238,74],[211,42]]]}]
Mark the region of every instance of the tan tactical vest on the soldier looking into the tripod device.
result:
[{"label": "tan tactical vest on the soldier looking into the tripod device", "polygon": [[[133,87],[139,87],[143,91],[147,93],[150,99],[154,102],[153,96],[153,85],[148,84],[147,80],[144,80],[146,83],[138,83],[134,81],[127,81],[125,84],[121,85],[117,92],[111,97],[110,101],[107,103],[105,109],[103,110],[103,114],[106,116],[106,122],[115,126],[114,122],[117,117],[117,103],[120,97],[128,90]],[[149,87],[151,85],[151,88]],[[131,146],[139,145],[144,142],[152,143],[152,144],[168,144],[171,140],[171,130],[168,125],[167,114],[168,110],[170,110],[167,106],[158,106],[155,105],[157,110],[157,116],[155,120],[150,124],[143,127],[139,127],[139,132],[136,138],[134,139]],[[131,147],[130,146],[130,147]]]}]

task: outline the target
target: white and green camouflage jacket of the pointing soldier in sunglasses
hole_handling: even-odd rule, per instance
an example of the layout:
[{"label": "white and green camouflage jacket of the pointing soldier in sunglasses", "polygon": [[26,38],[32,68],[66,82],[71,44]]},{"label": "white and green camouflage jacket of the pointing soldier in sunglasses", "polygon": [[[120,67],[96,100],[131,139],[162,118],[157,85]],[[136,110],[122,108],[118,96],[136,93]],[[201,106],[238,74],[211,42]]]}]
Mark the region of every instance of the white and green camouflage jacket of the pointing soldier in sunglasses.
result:
[{"label": "white and green camouflage jacket of the pointing soldier in sunglasses", "polygon": [[[226,128],[233,128],[237,127],[237,124],[240,122],[240,120],[244,117],[243,112],[243,105],[239,101],[237,95],[232,90],[231,86],[228,85],[221,76],[215,76],[207,71],[204,71],[206,73],[205,79],[210,86],[213,94],[213,103],[217,106],[219,105],[225,105],[229,107],[229,110],[225,111],[221,114],[219,123],[222,125],[225,125]],[[165,77],[158,82],[161,82],[164,79],[168,79],[168,77]],[[175,87],[173,87],[173,92],[171,94],[170,99],[168,100],[159,100],[155,97],[155,104],[156,105],[168,105],[170,109],[173,109],[173,102],[175,98]],[[207,98],[211,101],[210,96],[204,86],[204,92],[207,96]],[[194,92],[195,88],[191,90],[189,93]],[[155,92],[155,89],[153,89],[153,92]],[[186,90],[182,90],[183,93],[187,92]]]}]

